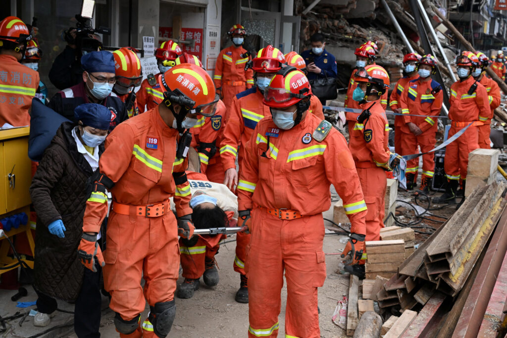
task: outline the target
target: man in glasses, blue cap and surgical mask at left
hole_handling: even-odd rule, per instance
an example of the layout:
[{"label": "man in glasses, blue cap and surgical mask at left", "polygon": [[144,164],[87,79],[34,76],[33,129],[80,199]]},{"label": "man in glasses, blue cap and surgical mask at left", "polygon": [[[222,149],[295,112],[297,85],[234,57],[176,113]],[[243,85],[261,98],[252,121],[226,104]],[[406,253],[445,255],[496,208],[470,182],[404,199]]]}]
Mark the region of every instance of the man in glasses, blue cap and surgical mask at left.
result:
[{"label": "man in glasses, blue cap and surgical mask at left", "polygon": [[83,103],[97,103],[111,111],[112,131],[128,119],[125,103],[113,93],[116,84],[115,60],[111,52],[90,52],[81,57],[83,82],[56,93],[48,107],[68,120],[77,123],[74,109]]}]

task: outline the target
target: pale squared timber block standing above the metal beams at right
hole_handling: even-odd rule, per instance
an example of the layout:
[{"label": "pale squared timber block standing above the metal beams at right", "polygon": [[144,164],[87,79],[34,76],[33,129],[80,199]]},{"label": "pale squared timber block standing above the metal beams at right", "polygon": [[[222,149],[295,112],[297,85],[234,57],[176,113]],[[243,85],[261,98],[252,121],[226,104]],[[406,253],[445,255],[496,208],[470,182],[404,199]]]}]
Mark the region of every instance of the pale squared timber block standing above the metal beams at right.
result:
[{"label": "pale squared timber block standing above the metal beams at right", "polygon": [[470,196],[478,187],[495,181],[499,155],[500,151],[498,149],[481,148],[468,154],[465,197]]}]

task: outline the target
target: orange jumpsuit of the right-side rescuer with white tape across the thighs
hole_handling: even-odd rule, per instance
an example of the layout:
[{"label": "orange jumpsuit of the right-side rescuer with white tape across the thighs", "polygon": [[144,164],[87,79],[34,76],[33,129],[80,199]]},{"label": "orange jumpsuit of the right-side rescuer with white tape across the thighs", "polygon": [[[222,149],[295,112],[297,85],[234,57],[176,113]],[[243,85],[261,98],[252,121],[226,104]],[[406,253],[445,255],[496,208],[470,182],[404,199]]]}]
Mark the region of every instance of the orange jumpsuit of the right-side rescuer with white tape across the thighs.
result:
[{"label": "orange jumpsuit of the right-side rescuer with white tape across the thighs", "polygon": [[468,154],[479,147],[477,126],[483,124],[479,119],[480,117],[487,118],[491,114],[488,92],[483,85],[478,83],[475,92],[468,95],[468,90],[474,82],[474,78],[469,77],[462,82],[458,80],[451,86],[449,137],[466,127],[470,122],[474,122],[474,124],[446,148],[444,170],[447,179],[466,179]]}]

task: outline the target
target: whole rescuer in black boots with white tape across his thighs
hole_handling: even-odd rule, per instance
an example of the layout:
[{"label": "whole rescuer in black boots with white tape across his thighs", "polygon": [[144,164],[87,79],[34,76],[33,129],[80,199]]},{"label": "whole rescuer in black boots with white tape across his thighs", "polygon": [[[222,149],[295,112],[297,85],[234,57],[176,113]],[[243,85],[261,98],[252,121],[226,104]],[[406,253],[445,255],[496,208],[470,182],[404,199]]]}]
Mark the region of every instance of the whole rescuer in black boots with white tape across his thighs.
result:
[{"label": "whole rescuer in black boots with white tape across his thighs", "polygon": [[477,126],[484,124],[480,120],[481,117],[487,118],[491,114],[486,88],[472,77],[476,65],[479,66],[479,59],[470,52],[463,52],[456,58],[459,80],[451,86],[449,98],[451,129],[449,129],[448,137],[470,123],[472,125],[446,147],[444,159],[444,170],[447,176],[446,191],[441,197],[434,198],[434,203],[455,203],[460,179],[461,189],[465,191],[468,154],[479,147]]}]

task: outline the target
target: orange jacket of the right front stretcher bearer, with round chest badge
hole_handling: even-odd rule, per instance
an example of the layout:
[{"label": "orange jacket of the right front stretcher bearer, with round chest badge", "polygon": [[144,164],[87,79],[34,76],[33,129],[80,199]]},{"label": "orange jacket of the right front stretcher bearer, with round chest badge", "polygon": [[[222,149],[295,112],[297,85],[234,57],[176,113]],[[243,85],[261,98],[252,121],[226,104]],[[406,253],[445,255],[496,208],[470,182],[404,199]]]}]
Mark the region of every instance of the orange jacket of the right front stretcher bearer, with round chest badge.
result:
[{"label": "orange jacket of the right front stretcher bearer, with round chest badge", "polygon": [[[319,142],[313,133],[321,127],[331,130]],[[354,161],[345,138],[329,122],[306,114],[301,123],[282,130],[269,117],[257,124],[244,148],[238,210],[287,208],[303,216],[316,215],[331,206],[332,183],[343,200],[351,231],[366,234],[367,207]]]}]

